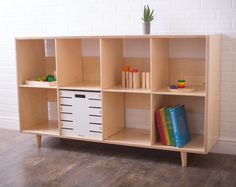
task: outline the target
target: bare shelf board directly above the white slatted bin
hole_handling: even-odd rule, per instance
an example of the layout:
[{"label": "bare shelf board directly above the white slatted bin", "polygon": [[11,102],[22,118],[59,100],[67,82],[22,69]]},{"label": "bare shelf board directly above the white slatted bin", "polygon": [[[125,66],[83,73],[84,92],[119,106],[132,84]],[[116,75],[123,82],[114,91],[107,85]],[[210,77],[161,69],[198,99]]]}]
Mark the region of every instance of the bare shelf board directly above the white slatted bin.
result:
[{"label": "bare shelf board directly above the white slatted bin", "polygon": [[101,90],[99,81],[81,81],[68,84],[66,86],[60,86],[61,89],[71,90]]}]

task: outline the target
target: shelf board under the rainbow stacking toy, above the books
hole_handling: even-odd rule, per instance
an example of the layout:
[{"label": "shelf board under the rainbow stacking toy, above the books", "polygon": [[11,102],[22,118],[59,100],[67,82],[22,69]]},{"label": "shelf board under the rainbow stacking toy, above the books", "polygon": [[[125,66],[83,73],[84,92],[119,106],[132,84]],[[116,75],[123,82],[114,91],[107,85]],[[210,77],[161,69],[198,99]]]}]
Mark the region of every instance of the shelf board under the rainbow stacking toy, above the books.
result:
[{"label": "shelf board under the rainbow stacking toy, above the books", "polygon": [[152,92],[153,94],[159,95],[182,95],[182,96],[197,96],[197,97],[205,97],[206,91],[203,86],[196,87],[193,92],[172,92],[169,91],[167,87],[161,88],[159,90],[155,90]]}]

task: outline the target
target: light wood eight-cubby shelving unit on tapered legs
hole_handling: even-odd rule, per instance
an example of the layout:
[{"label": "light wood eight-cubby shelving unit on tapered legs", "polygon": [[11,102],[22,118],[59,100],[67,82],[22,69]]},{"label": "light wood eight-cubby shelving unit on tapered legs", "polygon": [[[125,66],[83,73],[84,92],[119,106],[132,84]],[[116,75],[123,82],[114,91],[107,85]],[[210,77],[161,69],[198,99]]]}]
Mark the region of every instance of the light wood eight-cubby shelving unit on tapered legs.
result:
[{"label": "light wood eight-cubby shelving unit on tapered legs", "polygon": [[[177,151],[182,166],[186,166],[187,153],[207,154],[218,138],[220,41],[219,35],[17,38],[21,132],[36,134],[39,147],[41,135],[50,135]],[[150,72],[150,89],[123,88],[124,65]],[[25,80],[54,70],[56,86],[25,85]],[[180,73],[195,91],[175,93],[167,89]],[[72,125],[78,129],[74,117],[72,121],[63,119],[73,113],[63,110],[75,107],[67,94],[81,98],[77,93],[86,93],[90,95],[88,102],[97,102],[89,110],[99,113],[95,115],[99,123],[91,123],[100,125],[99,136],[67,133],[71,129],[64,128]],[[91,99],[93,95],[97,98]],[[182,148],[161,144],[154,118],[155,109],[175,104],[186,106],[191,131],[191,141]],[[78,110],[81,106],[76,105]]]}]

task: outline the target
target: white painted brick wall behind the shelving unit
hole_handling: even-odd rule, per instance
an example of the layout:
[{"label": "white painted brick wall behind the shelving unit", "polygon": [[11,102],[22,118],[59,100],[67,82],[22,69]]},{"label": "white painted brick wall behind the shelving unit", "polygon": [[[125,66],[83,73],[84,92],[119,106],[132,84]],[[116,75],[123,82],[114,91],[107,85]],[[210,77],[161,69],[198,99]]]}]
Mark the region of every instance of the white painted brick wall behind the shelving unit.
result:
[{"label": "white painted brick wall behind the shelving unit", "polygon": [[0,1],[0,127],[17,128],[15,37],[140,34],[142,8],[155,9],[152,33],[223,34],[220,139],[236,154],[236,0]]}]

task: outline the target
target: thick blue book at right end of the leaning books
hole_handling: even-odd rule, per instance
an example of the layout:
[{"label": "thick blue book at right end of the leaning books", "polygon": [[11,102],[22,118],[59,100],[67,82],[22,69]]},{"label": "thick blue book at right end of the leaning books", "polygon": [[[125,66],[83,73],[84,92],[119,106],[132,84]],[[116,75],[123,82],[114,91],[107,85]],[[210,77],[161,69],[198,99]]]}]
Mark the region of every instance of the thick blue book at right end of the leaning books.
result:
[{"label": "thick blue book at right end of the leaning books", "polygon": [[188,120],[184,105],[169,109],[176,147],[183,147],[190,141]]}]

